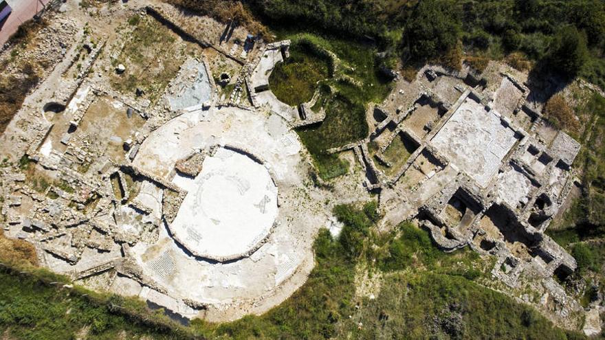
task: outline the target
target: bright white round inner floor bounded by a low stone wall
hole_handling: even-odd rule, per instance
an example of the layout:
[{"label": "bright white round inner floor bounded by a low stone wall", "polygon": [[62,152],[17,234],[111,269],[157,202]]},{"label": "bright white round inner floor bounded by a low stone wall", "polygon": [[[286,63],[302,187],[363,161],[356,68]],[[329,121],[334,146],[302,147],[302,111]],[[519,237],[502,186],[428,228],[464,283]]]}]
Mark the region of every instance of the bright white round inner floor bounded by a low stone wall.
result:
[{"label": "bright white round inner floor bounded by a low stone wall", "polygon": [[269,236],[278,214],[277,187],[252,157],[219,147],[195,179],[175,179],[187,195],[170,232],[195,256],[220,262],[243,258]]}]

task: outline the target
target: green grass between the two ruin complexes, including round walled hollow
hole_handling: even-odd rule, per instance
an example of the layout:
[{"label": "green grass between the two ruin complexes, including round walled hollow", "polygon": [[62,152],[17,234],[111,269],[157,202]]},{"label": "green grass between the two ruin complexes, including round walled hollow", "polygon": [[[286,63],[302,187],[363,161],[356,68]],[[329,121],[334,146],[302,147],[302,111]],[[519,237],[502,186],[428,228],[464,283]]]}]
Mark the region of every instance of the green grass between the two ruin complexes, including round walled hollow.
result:
[{"label": "green grass between the two ruin complexes, including round walled hollow", "polygon": [[[322,179],[345,174],[348,164],[327,155],[326,150],[367,137],[366,107],[371,102],[382,102],[391,90],[391,82],[380,75],[375,62],[376,49],[313,34],[278,32],[278,38],[292,40],[292,56],[272,73],[271,88],[284,102],[300,104],[311,98],[320,80],[321,95],[313,109],[323,107],[326,119],[298,133]],[[330,52],[338,58],[336,62],[331,60]]]}]

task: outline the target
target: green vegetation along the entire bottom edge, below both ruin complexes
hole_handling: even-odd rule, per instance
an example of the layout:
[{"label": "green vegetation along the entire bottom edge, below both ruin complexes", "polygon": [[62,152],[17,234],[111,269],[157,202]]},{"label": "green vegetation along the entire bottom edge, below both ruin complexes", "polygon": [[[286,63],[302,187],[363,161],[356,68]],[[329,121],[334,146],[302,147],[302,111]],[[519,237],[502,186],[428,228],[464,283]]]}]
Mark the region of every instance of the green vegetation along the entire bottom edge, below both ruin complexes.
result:
[{"label": "green vegetation along the entire bottom edge, below both ruin complexes", "polygon": [[[259,317],[182,328],[133,299],[61,288],[65,278],[46,271],[1,269],[0,330],[15,339],[583,339],[474,282],[489,267],[473,251],[443,253],[410,223],[376,234],[375,202],[334,214],[344,227],[338,238],[320,230],[309,280]],[[355,293],[366,270],[382,280],[373,298]]]}]

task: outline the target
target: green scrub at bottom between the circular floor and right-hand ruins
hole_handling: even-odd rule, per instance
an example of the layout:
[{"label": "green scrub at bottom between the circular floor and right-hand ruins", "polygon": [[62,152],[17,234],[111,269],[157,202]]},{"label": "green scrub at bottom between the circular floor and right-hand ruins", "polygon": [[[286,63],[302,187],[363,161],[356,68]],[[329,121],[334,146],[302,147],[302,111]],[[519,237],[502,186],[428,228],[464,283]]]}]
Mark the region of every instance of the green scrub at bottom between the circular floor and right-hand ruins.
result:
[{"label": "green scrub at bottom between the circular floor and right-hand ruins", "polygon": [[[230,339],[582,338],[472,282],[483,275],[476,253],[443,253],[409,223],[378,236],[375,203],[338,205],[334,213],[344,223],[340,237],[320,231],[316,267],[290,299],[261,317],[219,326],[196,321],[194,327],[207,337]],[[374,261],[380,264],[369,276],[384,277],[380,293],[375,299],[356,296],[355,273]]]}]

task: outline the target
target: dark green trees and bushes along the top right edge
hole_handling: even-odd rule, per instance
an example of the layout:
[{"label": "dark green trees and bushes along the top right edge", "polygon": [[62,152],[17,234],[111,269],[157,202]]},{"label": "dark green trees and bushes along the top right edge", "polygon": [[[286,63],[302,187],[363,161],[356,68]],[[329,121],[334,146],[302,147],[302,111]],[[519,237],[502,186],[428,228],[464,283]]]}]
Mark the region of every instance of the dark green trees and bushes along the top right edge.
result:
[{"label": "dark green trees and bushes along the top right edge", "polygon": [[276,25],[305,23],[300,30],[371,36],[389,56],[401,57],[404,67],[427,60],[459,67],[463,50],[478,69],[486,60],[504,58],[527,69],[527,57],[540,62],[540,71],[577,74],[605,87],[605,3],[600,0],[250,2]]}]

